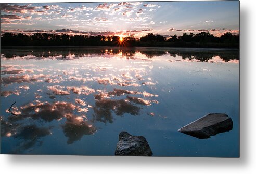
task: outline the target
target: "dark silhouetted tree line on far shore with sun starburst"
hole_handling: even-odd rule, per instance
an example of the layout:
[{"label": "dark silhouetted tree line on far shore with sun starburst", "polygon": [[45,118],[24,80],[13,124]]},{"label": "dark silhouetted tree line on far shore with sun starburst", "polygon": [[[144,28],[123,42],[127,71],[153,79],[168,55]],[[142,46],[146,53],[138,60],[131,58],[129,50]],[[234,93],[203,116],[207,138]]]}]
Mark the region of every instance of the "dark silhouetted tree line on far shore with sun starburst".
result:
[{"label": "dark silhouetted tree line on far shore with sun starburst", "polygon": [[170,42],[174,43],[172,45],[175,45],[175,43],[177,43],[177,45],[182,45],[181,43],[215,43],[238,45],[239,35],[227,32],[222,36],[217,37],[209,32],[201,32],[197,34],[183,33],[182,36],[173,35],[167,39],[159,34],[148,33],[140,38],[134,38],[133,36],[123,37],[123,41],[120,41],[119,36],[103,35],[87,36],[50,33],[35,33],[32,35],[26,35],[22,33],[4,33],[1,36],[2,46],[140,46],[146,42],[149,42],[149,46],[159,46],[161,43],[166,45],[168,42],[169,45]]}]

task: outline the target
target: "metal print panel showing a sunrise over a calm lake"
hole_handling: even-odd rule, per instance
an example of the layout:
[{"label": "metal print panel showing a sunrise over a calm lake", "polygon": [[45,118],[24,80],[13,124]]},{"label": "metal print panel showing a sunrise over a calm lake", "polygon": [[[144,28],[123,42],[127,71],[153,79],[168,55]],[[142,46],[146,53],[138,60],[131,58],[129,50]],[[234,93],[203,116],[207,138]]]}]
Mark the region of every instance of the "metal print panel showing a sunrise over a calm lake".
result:
[{"label": "metal print panel showing a sunrise over a calm lake", "polygon": [[1,154],[239,157],[239,1],[1,4]]}]

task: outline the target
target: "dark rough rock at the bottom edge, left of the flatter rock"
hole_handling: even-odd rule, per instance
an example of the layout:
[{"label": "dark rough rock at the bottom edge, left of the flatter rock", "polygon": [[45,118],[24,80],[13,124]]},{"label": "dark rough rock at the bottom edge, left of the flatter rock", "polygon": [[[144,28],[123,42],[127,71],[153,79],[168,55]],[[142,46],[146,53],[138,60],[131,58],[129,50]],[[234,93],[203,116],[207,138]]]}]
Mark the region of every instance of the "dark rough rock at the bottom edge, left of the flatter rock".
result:
[{"label": "dark rough rock at the bottom edge, left of the flatter rock", "polygon": [[145,137],[121,132],[114,154],[118,156],[152,156],[153,153]]}]

